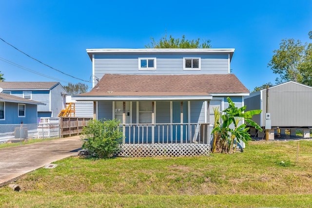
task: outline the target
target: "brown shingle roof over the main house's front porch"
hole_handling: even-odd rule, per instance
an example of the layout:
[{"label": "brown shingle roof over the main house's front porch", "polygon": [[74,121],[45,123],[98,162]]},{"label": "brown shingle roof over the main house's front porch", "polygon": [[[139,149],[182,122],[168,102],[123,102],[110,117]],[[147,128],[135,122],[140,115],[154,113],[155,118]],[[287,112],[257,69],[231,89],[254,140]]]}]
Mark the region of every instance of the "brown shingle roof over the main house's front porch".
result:
[{"label": "brown shingle roof over the main house's front porch", "polygon": [[89,93],[78,96],[207,95],[249,93],[234,74],[117,75],[106,74]]}]

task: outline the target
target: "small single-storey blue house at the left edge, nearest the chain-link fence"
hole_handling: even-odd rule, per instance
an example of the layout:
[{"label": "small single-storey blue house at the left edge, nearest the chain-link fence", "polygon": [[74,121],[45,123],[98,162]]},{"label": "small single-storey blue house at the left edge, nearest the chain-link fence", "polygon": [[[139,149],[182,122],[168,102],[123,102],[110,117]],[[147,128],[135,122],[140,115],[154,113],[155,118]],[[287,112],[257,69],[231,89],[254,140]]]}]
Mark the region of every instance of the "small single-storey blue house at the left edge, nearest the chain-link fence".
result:
[{"label": "small single-storey blue house at the left edge, nearest the chain-link fence", "polygon": [[0,124],[36,124],[38,105],[44,103],[0,93]]}]

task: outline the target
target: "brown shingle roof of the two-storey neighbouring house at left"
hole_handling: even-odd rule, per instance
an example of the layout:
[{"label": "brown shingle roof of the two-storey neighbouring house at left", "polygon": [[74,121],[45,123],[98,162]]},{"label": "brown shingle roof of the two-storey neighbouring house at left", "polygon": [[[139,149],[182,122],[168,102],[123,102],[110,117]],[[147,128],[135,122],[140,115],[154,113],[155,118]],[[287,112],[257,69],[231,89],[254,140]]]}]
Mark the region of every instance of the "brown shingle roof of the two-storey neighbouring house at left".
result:
[{"label": "brown shingle roof of the two-storey neighbouring house at left", "polygon": [[59,82],[0,82],[4,90],[49,90]]}]

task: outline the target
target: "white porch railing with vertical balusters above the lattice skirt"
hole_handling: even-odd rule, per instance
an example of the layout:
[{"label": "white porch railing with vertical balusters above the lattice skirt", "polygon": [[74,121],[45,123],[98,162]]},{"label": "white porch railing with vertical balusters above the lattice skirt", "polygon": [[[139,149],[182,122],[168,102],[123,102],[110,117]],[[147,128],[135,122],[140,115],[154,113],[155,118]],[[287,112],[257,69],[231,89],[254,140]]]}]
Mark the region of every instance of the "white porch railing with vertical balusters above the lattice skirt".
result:
[{"label": "white porch railing with vertical balusters above the lattice skirt", "polygon": [[120,124],[123,144],[210,144],[209,123]]}]

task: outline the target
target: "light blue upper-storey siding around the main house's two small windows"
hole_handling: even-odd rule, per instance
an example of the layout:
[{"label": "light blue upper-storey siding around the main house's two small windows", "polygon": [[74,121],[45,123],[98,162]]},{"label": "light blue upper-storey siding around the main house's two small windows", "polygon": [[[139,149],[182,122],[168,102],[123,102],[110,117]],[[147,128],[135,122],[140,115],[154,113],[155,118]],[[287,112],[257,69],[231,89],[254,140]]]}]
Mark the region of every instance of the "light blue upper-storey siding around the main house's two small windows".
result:
[{"label": "light blue upper-storey siding around the main house's two small windows", "polygon": [[[138,70],[139,57],[156,57],[156,70]],[[183,70],[183,58],[200,57],[201,70]],[[96,55],[95,76],[104,74],[228,74],[228,55]]]}]

